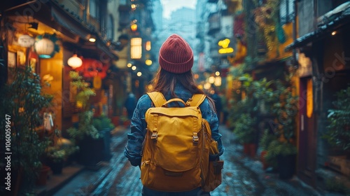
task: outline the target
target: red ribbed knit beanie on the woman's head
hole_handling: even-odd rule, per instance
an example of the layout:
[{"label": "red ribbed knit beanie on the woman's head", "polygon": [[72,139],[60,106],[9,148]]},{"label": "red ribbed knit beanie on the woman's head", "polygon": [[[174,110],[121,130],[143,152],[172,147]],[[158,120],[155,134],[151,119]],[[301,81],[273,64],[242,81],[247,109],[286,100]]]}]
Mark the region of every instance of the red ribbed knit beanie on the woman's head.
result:
[{"label": "red ribbed knit beanie on the woman's head", "polygon": [[172,34],[160,48],[159,64],[166,71],[185,73],[193,66],[193,51],[181,36]]}]

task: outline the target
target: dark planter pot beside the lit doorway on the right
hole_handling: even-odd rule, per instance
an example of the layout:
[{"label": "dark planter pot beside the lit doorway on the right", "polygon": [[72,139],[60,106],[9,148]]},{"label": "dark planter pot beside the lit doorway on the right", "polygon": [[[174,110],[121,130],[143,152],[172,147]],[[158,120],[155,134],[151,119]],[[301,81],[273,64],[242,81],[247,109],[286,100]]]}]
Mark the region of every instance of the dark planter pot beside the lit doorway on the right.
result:
[{"label": "dark planter pot beside the lit doorway on the right", "polygon": [[295,173],[296,155],[279,155],[277,162],[279,164],[279,178],[291,179]]}]

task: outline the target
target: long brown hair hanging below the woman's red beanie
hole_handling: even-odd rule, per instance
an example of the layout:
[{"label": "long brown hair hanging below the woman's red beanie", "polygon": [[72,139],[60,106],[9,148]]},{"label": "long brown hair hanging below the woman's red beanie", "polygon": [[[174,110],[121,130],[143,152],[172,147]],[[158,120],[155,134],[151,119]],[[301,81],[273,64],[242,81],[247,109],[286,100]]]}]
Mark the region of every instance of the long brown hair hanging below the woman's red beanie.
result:
[{"label": "long brown hair hanging below the woman's red beanie", "polygon": [[[153,89],[151,91],[162,92],[162,94],[167,94],[167,92],[170,92],[173,98],[177,97],[175,94],[176,83],[181,83],[181,85],[183,85],[183,87],[189,90],[192,94],[204,94],[204,91],[197,87],[192,70],[185,73],[171,73],[159,68],[151,83],[153,85]],[[207,98],[215,110],[214,100],[208,96]]]}]

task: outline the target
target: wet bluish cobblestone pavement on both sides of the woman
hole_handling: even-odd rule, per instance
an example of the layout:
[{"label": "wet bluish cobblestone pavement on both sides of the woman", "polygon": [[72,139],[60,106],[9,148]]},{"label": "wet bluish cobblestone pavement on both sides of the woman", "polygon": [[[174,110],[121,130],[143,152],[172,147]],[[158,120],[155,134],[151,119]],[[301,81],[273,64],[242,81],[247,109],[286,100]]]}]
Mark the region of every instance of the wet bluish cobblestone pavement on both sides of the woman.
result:
[{"label": "wet bluish cobblestone pavement on both sides of the woman", "polygon": [[[118,132],[112,138],[113,158],[98,171],[85,170],[66,184],[55,195],[141,195],[139,167],[132,167],[123,155],[126,134],[129,130]],[[262,171],[260,161],[246,158],[235,136],[221,127],[225,153],[223,182],[211,195],[320,195],[304,186],[297,179],[280,180],[277,174]]]}]

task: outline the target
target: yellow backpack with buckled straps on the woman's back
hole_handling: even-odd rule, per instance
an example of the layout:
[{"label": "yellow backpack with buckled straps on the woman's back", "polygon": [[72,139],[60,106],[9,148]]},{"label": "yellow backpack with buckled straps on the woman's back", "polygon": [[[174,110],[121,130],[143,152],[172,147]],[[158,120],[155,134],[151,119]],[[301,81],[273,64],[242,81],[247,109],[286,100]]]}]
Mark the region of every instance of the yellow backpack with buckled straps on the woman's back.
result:
[{"label": "yellow backpack with buckled straps on the woman's back", "polygon": [[[223,162],[209,163],[209,153],[218,153],[218,146],[211,139],[209,123],[200,111],[205,95],[194,94],[186,103],[179,98],[167,101],[160,92],[149,92],[148,96],[155,107],[148,109],[145,116],[147,131],[141,159],[143,185],[165,192],[198,187],[214,190],[221,184]],[[181,102],[185,107],[168,107],[172,102]],[[216,169],[214,165],[218,165]]]}]

